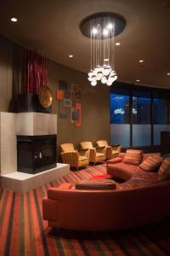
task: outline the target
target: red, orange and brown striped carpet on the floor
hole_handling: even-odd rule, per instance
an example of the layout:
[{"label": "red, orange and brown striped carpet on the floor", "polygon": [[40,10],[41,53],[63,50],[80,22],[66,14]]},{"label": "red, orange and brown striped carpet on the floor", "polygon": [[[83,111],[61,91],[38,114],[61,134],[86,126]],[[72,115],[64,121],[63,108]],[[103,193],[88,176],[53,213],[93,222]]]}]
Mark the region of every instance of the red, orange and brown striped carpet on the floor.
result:
[{"label": "red, orange and brown striped carpet on the floor", "polygon": [[103,173],[105,165],[88,166],[25,194],[0,190],[0,256],[170,255],[170,218],[116,232],[57,232],[42,221],[48,187]]}]

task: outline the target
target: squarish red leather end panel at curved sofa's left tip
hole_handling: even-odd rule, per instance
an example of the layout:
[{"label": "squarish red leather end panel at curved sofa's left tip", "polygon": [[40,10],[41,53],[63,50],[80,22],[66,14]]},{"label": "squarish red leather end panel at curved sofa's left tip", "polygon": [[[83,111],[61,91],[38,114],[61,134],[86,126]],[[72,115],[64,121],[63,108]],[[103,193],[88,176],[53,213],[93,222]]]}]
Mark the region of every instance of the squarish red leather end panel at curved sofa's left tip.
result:
[{"label": "squarish red leather end panel at curved sofa's left tip", "polygon": [[48,221],[57,221],[58,202],[52,199],[43,198],[42,199],[42,218]]}]

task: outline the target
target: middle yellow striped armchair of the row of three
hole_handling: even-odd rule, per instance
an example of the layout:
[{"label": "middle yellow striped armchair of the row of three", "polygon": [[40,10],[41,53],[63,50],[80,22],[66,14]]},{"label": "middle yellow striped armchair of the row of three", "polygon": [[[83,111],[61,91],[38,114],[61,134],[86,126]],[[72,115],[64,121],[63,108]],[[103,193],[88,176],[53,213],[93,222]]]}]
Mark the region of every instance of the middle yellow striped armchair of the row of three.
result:
[{"label": "middle yellow striped armchair of the row of three", "polygon": [[80,148],[90,149],[89,162],[93,162],[94,165],[96,162],[105,161],[105,154],[102,152],[102,150],[98,150],[98,148],[94,148],[93,143],[82,142],[82,143],[80,143]]}]

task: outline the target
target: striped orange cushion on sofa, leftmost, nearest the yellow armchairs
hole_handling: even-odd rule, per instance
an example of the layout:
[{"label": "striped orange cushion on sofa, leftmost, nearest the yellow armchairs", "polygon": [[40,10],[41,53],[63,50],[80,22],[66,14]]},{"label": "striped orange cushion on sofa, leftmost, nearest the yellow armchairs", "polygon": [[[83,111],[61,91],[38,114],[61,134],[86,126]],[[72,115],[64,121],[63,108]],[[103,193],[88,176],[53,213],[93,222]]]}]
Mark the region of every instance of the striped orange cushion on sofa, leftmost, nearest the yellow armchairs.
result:
[{"label": "striped orange cushion on sofa, leftmost, nearest the yellow armchairs", "polygon": [[127,149],[127,154],[125,154],[122,161],[125,164],[139,166],[142,160],[142,156],[143,156],[142,150]]}]

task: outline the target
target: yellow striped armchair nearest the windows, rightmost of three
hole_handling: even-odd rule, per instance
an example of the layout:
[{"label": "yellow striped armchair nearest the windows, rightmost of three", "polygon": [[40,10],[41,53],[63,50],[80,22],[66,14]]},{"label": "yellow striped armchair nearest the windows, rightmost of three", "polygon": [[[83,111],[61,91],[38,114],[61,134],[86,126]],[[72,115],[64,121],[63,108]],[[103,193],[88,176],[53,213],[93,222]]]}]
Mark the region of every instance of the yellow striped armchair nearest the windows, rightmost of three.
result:
[{"label": "yellow striped armchair nearest the windows, rightmost of three", "polygon": [[114,158],[121,152],[120,145],[109,146],[105,140],[100,140],[96,144],[98,148],[104,148],[105,159]]}]

